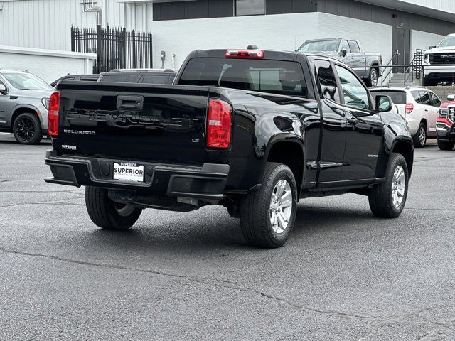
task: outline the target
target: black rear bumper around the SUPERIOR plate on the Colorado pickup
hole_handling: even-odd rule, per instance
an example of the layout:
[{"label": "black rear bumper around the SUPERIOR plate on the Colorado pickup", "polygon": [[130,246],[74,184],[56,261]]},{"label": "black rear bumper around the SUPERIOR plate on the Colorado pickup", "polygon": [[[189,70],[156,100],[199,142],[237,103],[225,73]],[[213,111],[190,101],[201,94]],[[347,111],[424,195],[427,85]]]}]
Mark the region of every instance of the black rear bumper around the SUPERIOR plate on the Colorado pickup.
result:
[{"label": "black rear bumper around the SUPERIOR plate on the Colorado pickup", "polygon": [[79,156],[58,156],[47,151],[45,164],[53,178],[47,183],[93,186],[115,190],[129,190],[152,195],[193,197],[201,200],[223,199],[228,182],[229,165],[204,163],[203,166],[181,166],[162,163],[137,162],[144,165],[144,183],[122,182],[112,179],[114,162],[119,160]]}]

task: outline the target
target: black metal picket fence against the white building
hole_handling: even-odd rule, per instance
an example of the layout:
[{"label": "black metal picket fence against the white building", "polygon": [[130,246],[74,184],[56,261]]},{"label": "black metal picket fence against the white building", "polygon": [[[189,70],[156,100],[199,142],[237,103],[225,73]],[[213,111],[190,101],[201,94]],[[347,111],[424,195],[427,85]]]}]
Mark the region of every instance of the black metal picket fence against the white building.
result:
[{"label": "black metal picket fence against the white building", "polygon": [[153,67],[151,41],[151,33],[125,28],[71,28],[71,50],[98,55],[93,73]]}]

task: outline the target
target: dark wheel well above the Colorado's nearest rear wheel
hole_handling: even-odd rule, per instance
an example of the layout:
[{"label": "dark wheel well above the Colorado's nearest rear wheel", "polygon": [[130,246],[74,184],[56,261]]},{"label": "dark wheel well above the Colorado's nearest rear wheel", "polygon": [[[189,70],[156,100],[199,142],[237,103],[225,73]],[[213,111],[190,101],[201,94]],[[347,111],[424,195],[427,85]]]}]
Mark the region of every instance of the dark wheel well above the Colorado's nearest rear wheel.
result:
[{"label": "dark wheel well above the Colorado's nearest rear wheel", "polygon": [[288,166],[296,179],[297,192],[300,193],[304,178],[304,152],[299,144],[294,142],[277,142],[270,149],[267,161],[283,163]]}]

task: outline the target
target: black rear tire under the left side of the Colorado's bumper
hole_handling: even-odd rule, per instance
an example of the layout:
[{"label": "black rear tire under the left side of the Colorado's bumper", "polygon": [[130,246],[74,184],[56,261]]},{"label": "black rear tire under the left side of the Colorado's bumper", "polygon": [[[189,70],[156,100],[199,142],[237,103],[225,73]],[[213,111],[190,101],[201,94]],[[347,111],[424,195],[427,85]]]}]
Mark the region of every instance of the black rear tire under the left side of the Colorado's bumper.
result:
[{"label": "black rear tire under the left side of the Colorado's bumper", "polygon": [[109,199],[104,188],[85,188],[85,206],[92,222],[102,229],[129,229],[139,219],[142,210]]}]

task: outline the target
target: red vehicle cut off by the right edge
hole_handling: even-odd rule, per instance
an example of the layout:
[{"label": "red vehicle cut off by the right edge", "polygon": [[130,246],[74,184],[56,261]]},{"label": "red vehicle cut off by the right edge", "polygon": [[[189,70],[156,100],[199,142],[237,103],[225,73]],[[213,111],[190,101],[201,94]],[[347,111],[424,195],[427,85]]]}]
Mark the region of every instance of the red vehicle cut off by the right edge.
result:
[{"label": "red vehicle cut off by the right edge", "polygon": [[436,121],[438,146],[442,151],[450,151],[455,146],[455,94],[447,96],[447,102],[439,107]]}]

